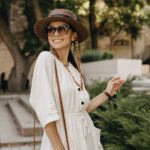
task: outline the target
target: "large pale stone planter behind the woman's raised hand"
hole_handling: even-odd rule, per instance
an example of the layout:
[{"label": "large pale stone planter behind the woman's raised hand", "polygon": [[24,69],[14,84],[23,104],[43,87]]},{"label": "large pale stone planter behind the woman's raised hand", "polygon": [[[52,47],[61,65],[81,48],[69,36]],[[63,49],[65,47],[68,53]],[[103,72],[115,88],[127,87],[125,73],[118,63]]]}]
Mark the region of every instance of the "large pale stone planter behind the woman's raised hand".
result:
[{"label": "large pale stone planter behind the woman's raised hand", "polygon": [[83,63],[83,73],[86,84],[93,81],[108,79],[114,75],[123,78],[142,75],[142,60],[140,59],[112,59]]}]

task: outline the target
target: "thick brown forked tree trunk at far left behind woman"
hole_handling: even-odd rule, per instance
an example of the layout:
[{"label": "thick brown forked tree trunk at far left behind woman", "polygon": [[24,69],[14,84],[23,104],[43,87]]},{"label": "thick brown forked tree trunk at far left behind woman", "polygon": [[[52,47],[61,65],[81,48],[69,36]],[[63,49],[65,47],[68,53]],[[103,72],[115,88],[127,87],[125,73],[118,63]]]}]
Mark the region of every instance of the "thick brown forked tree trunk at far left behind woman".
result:
[{"label": "thick brown forked tree trunk at far left behind woman", "polygon": [[[37,20],[41,18],[41,10],[38,5],[37,0],[33,0],[34,13]],[[14,61],[14,67],[11,70],[8,88],[11,92],[22,92],[26,90],[27,86],[27,76],[32,65],[33,61],[36,59],[37,55],[43,47],[40,47],[34,54],[31,56],[25,56],[15,39],[12,33],[9,30],[9,27],[6,25],[3,16],[0,14],[0,37],[2,41],[8,47],[9,52]]]}]

